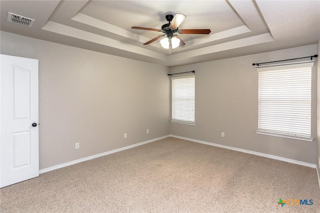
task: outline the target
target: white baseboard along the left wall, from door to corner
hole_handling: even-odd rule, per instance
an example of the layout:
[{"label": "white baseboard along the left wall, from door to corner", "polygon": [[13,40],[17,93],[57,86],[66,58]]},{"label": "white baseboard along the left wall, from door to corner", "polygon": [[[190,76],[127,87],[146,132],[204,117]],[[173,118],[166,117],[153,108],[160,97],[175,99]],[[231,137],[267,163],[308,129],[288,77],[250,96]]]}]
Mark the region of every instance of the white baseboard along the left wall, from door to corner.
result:
[{"label": "white baseboard along the left wall, from door to corner", "polygon": [[53,167],[49,167],[49,168],[46,168],[46,169],[39,170],[39,174],[42,174],[42,173],[45,173],[45,172],[49,172],[49,171],[52,171],[52,170],[56,170],[56,169],[60,169],[62,167],[67,167],[67,166],[70,166],[70,165],[73,165],[73,164],[77,164],[77,163],[80,163],[80,162],[83,162],[83,161],[88,161],[88,160],[91,160],[91,159],[94,159],[94,158],[102,157],[102,156],[105,156],[105,155],[109,155],[109,154],[112,154],[112,153],[120,152],[120,151],[123,151],[123,150],[126,150],[126,149],[130,149],[130,148],[133,148],[133,147],[141,146],[143,144],[147,144],[147,143],[151,143],[151,142],[154,142],[154,141],[158,141],[158,140],[161,140],[161,139],[164,139],[164,138],[167,138],[167,137],[169,137],[169,135],[162,136],[162,137],[155,138],[155,139],[151,139],[151,140],[144,141],[144,142],[141,142],[141,143],[133,144],[133,145],[130,145],[130,146],[122,147],[122,148],[119,148],[119,149],[111,150],[111,151],[108,151],[108,152],[100,153],[100,154],[97,154],[97,155],[92,155],[92,156],[89,156],[89,157],[81,158],[81,159],[78,159],[78,160],[75,160],[75,161],[70,161],[70,162],[67,162],[67,163],[64,163],[64,164],[59,164],[59,165],[56,165],[56,166],[53,166]]}]

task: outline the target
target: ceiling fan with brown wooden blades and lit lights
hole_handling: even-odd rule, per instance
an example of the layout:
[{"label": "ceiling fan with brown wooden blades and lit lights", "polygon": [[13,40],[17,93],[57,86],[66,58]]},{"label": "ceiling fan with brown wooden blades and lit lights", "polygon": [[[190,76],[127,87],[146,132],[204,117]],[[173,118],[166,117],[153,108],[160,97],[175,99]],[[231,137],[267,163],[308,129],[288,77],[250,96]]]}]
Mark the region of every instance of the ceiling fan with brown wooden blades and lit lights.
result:
[{"label": "ceiling fan with brown wooden blades and lit lights", "polygon": [[132,26],[131,28],[163,32],[163,35],[158,35],[155,38],[152,38],[151,40],[145,42],[144,45],[150,44],[153,41],[156,41],[165,36],[163,39],[160,40],[160,43],[163,48],[169,49],[169,54],[171,54],[171,49],[185,45],[182,39],[178,35],[173,33],[178,32],[180,34],[209,34],[211,32],[210,29],[178,29],[178,26],[182,23],[184,18],[185,15],[183,15],[182,13],[176,13],[174,17],[173,15],[168,14],[165,15],[165,19],[169,21],[169,23],[163,24],[161,29],[140,26]]}]

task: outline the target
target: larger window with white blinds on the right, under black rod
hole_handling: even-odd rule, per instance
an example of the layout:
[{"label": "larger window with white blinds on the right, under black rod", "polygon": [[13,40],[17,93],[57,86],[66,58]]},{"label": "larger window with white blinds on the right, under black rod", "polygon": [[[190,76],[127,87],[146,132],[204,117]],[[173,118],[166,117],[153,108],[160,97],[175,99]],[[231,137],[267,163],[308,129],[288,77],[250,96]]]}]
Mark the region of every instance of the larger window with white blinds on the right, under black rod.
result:
[{"label": "larger window with white blinds on the right, under black rod", "polygon": [[258,134],[312,141],[313,62],[258,67]]}]

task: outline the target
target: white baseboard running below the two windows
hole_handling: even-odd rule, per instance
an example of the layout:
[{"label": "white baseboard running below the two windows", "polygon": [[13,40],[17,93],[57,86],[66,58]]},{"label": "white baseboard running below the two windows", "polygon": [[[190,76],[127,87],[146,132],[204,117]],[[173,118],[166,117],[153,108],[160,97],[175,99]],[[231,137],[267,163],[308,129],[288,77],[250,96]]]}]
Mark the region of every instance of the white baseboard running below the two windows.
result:
[{"label": "white baseboard running below the two windows", "polygon": [[[238,152],[244,152],[244,153],[248,153],[248,154],[252,154],[252,155],[257,155],[257,156],[261,156],[261,157],[265,157],[265,158],[271,158],[271,159],[284,161],[284,162],[288,162],[288,163],[292,163],[292,164],[298,164],[298,165],[305,166],[305,167],[316,168],[315,164],[309,164],[309,163],[296,161],[296,160],[292,160],[292,159],[287,159],[287,158],[282,158],[282,157],[278,157],[278,156],[274,156],[274,155],[269,155],[269,154],[264,154],[264,153],[259,153],[259,152],[253,152],[253,151],[234,148],[234,147],[228,147],[228,146],[224,146],[224,145],[220,145],[220,144],[214,144],[214,143],[210,143],[210,142],[199,141],[199,140],[195,140],[195,139],[191,139],[191,138],[184,138],[184,137],[180,137],[180,136],[176,136],[176,135],[169,135],[169,136],[173,137],[173,138],[179,138],[179,139],[182,139],[182,140],[187,140],[187,141],[200,143],[200,144],[206,144],[206,145],[210,145],[210,146],[220,147],[220,148],[234,150],[234,151],[238,151]],[[319,176],[318,176],[318,178],[319,178]]]}]

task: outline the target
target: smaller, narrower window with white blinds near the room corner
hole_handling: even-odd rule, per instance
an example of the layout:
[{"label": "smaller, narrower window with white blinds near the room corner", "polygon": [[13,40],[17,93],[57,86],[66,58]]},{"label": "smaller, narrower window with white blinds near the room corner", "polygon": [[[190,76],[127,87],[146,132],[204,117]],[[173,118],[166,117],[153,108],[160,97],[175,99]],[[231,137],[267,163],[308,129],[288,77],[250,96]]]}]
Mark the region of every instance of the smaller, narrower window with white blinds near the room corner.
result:
[{"label": "smaller, narrower window with white blinds near the room corner", "polygon": [[171,77],[172,122],[194,125],[194,75]]}]

